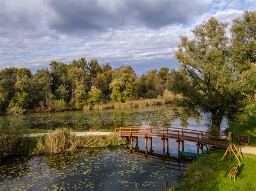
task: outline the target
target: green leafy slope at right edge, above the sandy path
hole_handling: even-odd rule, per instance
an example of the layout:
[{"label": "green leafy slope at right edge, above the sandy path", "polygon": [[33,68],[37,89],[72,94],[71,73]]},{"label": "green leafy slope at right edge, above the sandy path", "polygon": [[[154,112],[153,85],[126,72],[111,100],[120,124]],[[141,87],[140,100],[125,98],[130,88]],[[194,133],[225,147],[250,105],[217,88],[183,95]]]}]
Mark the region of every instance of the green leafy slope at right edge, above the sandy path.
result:
[{"label": "green leafy slope at right edge, above the sandy path", "polygon": [[235,122],[234,128],[230,130],[233,133],[233,141],[240,144],[238,134],[247,134],[250,136],[251,143],[248,146],[256,147],[256,108],[253,110],[254,116],[248,117],[244,123]]}]

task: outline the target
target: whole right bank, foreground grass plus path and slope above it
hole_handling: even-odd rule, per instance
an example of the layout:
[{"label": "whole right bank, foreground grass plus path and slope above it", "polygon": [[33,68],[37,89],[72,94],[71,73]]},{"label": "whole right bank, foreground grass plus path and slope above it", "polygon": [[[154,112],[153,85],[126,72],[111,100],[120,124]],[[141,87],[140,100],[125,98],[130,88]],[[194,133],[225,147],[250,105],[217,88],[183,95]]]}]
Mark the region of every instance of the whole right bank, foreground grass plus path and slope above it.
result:
[{"label": "whole right bank, foreground grass plus path and slope above it", "polygon": [[228,173],[233,166],[237,166],[237,160],[232,157],[223,157],[225,150],[212,151],[199,157],[188,167],[187,172],[180,179],[177,190],[255,190],[256,189],[256,108],[251,110],[245,122],[232,123],[233,142],[240,146],[238,135],[247,134],[251,143],[242,145],[242,166],[236,181],[228,178]]}]

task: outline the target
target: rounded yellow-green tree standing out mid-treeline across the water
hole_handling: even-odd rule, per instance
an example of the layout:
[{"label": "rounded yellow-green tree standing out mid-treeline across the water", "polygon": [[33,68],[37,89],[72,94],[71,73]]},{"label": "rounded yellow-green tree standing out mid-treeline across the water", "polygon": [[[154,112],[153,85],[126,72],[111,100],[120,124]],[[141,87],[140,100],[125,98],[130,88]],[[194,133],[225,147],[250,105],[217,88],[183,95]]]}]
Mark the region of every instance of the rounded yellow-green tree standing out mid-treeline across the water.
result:
[{"label": "rounded yellow-green tree standing out mid-treeline across the water", "polygon": [[111,99],[115,102],[127,102],[137,97],[135,84],[137,76],[131,66],[122,66],[114,71],[110,83]]}]

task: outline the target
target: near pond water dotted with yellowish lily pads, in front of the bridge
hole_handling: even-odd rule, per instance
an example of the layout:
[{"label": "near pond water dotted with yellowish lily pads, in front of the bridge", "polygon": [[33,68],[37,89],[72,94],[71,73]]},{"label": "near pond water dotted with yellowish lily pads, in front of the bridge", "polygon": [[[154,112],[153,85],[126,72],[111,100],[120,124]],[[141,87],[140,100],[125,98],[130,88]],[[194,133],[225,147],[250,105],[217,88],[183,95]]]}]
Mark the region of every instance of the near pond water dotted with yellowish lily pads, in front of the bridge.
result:
[{"label": "near pond water dotted with yellowish lily pads, in front of the bridge", "polygon": [[0,190],[159,190],[165,179],[177,185],[173,176],[181,174],[178,170],[145,164],[121,152],[88,148],[4,161],[0,163]]}]

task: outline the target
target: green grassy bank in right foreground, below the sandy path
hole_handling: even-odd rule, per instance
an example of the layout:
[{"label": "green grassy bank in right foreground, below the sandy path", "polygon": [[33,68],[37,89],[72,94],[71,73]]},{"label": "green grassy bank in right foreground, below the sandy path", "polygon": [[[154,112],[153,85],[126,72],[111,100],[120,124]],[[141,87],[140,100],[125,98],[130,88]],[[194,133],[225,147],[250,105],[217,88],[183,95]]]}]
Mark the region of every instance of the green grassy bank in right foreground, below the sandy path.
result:
[{"label": "green grassy bank in right foreground, below the sandy path", "polygon": [[244,154],[240,173],[236,181],[228,178],[228,173],[237,161],[226,157],[220,161],[224,150],[217,150],[198,158],[180,179],[177,190],[255,190],[256,155]]}]

